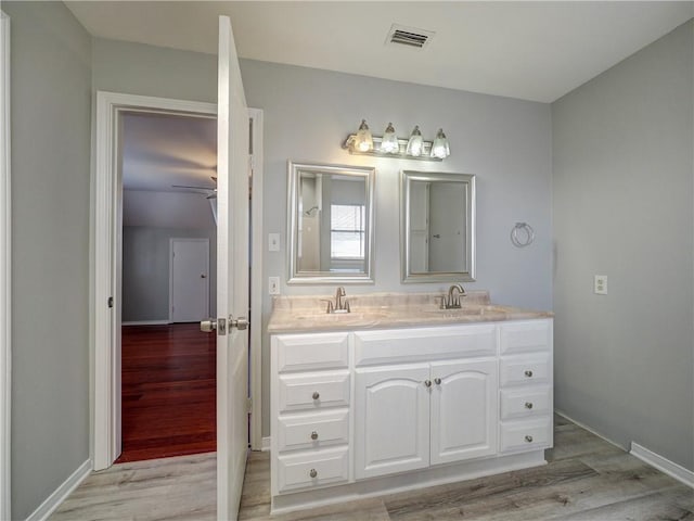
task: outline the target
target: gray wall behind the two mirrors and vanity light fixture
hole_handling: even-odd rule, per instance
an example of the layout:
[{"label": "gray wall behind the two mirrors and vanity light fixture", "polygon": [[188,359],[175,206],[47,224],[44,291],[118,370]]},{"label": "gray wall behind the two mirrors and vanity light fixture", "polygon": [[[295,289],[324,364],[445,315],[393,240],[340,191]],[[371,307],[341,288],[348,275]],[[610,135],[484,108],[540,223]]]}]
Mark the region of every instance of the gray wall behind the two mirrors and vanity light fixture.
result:
[{"label": "gray wall behind the two mirrors and vanity light fixture", "polygon": [[[264,111],[264,233],[282,236],[282,250],[265,253],[264,281],[280,276],[285,294],[334,293],[334,284],[284,284],[288,158],[376,166],[376,283],[350,285],[348,295],[447,287],[400,282],[398,176],[403,168],[470,173],[477,175],[478,271],[477,282],[465,287],[489,290],[500,303],[552,307],[550,105],[265,62],[242,61],[241,71],[248,105]],[[393,122],[404,137],[419,124],[432,139],[444,127],[452,155],[444,163],[349,155],[340,144],[362,117],[374,134]],[[522,250],[509,238],[519,220],[536,230],[535,243]],[[270,307],[266,297],[264,327]],[[265,360],[268,355],[266,338]],[[264,435],[268,435],[267,363],[264,370]]]}]

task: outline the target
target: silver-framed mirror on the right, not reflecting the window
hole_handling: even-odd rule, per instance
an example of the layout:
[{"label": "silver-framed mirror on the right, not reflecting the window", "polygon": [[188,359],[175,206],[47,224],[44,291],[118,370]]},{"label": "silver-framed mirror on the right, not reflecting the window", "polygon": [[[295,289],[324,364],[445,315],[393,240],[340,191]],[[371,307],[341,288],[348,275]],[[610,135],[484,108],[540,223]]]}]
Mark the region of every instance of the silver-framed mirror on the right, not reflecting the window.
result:
[{"label": "silver-framed mirror on the right, not reflecting the window", "polygon": [[475,280],[475,176],[402,170],[403,282]]}]

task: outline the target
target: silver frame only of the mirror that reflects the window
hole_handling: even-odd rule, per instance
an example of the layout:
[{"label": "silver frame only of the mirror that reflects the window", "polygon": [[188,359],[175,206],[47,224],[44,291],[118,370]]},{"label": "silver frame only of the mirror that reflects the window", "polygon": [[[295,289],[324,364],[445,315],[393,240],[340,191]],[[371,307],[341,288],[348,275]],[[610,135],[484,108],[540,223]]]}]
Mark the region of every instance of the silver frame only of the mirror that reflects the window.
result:
[{"label": "silver frame only of the mirror that reflects the window", "polygon": [[[298,270],[298,208],[299,175],[303,171],[362,177],[365,181],[367,241],[364,244],[364,271],[334,274],[331,271]],[[287,256],[290,277],[287,284],[373,284],[374,245],[374,186],[376,169],[373,166],[330,165],[322,163],[287,162]]]}]

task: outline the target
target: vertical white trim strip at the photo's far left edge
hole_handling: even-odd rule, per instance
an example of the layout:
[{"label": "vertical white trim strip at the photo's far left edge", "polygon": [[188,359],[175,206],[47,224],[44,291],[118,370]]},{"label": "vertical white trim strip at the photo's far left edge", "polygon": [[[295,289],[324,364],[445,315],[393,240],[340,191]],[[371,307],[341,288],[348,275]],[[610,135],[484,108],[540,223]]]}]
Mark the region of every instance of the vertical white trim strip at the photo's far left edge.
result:
[{"label": "vertical white trim strip at the photo's far left edge", "polygon": [[0,11],[0,519],[11,519],[12,270],[10,17]]}]

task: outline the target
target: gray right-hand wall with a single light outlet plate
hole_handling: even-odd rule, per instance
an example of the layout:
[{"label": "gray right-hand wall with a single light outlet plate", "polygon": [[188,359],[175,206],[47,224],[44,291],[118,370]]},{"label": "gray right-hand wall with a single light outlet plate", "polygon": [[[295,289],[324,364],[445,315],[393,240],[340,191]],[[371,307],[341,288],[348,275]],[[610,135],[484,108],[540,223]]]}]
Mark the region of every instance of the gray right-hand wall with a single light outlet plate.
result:
[{"label": "gray right-hand wall with a single light outlet plate", "polygon": [[552,105],[556,407],[690,470],[692,30]]}]

